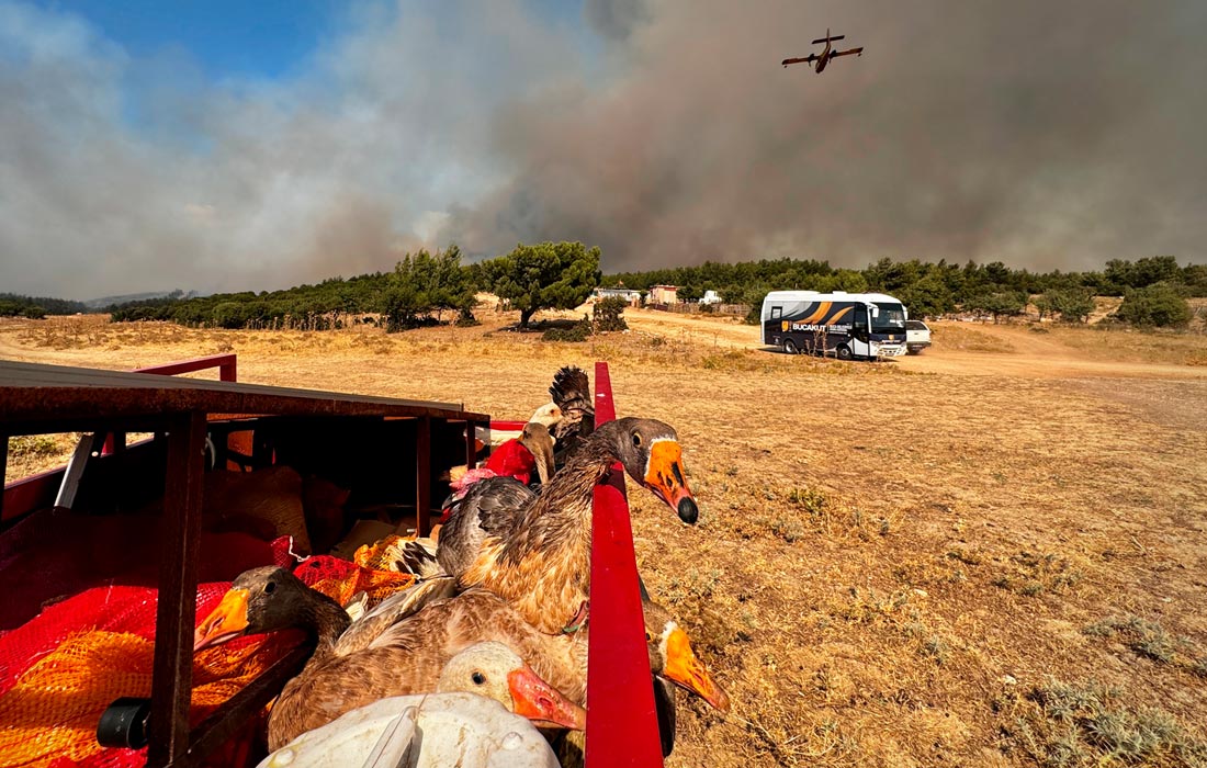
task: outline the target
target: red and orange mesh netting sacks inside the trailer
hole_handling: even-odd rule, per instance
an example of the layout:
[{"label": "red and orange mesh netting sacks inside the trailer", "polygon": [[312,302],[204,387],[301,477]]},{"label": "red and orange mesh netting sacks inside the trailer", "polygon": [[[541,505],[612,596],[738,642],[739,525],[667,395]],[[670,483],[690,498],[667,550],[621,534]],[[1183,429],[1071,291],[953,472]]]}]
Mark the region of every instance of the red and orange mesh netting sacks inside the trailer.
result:
[{"label": "red and orange mesh netting sacks inside the trailer", "polygon": [[[292,565],[287,542],[274,542],[279,565]],[[367,592],[377,603],[412,583],[409,574],[381,572],[320,555],[297,566],[305,583],[346,603]],[[228,582],[198,589],[197,618],[212,611]],[[0,766],[141,766],[145,750],[97,744],[100,714],[115,699],[151,694],[156,593],[146,587],[88,589],[0,636]],[[292,647],[297,635],[243,638],[200,651],[193,659],[191,718],[199,722]],[[247,764],[262,722],[250,723],[215,766]]]}]

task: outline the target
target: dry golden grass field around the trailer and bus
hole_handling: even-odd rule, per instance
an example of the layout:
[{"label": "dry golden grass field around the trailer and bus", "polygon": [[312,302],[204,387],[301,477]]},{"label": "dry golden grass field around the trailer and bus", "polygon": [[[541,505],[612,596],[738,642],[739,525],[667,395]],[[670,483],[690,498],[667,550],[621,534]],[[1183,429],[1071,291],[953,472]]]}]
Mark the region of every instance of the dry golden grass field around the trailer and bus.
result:
[{"label": "dry golden grass field around the trailer and bus", "polygon": [[[701,520],[630,483],[637,558],[733,700],[680,698],[669,766],[1207,764],[1207,337],[937,324],[922,355],[842,363],[626,318],[583,344],[489,313],[397,336],[13,320],[0,357],[233,350],[241,380],[502,418],[607,360],[622,414],[680,431]],[[12,475],[54,448],[22,450]]]}]

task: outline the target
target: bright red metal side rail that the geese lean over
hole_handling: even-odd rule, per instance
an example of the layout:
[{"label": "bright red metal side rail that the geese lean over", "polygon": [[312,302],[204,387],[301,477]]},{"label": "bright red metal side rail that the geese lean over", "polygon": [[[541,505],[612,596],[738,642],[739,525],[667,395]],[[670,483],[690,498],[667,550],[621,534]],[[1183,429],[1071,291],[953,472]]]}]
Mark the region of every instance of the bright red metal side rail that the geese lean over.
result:
[{"label": "bright red metal side rail that the geese lean over", "polygon": [[[613,419],[612,379],[607,363],[596,362],[595,424]],[[661,766],[637,560],[619,464],[595,487],[589,621],[587,768]]]}]

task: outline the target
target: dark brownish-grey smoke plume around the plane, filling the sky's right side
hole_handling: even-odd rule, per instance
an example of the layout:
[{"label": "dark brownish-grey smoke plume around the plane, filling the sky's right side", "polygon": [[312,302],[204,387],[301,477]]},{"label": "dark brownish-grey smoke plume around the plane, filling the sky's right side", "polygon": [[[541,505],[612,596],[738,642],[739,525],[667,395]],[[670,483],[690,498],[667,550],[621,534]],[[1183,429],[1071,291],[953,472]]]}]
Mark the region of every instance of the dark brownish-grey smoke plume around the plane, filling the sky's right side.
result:
[{"label": "dark brownish-grey smoke plume around the plane, filling the sky's right side", "polygon": [[[606,89],[537,94],[497,122],[518,173],[459,217],[462,239],[583,238],[611,268],[764,255],[1201,261],[1207,6],[756,7],[622,17],[639,21]],[[809,41],[827,27],[864,56],[821,75],[776,66],[820,50]]]}]

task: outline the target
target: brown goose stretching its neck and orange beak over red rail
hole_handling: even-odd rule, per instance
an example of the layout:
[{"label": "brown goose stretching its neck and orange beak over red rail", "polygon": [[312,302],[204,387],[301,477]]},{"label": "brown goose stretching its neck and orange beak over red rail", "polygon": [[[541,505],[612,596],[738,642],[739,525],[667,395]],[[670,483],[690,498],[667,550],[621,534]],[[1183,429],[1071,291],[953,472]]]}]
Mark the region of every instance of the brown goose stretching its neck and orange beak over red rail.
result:
[{"label": "brown goose stretching its neck and orange beak over red rail", "polygon": [[540,495],[507,478],[474,484],[441,529],[441,568],[462,588],[501,595],[542,632],[578,623],[590,587],[593,489],[616,461],[695,523],[675,430],[654,419],[618,419],[583,440]]}]

